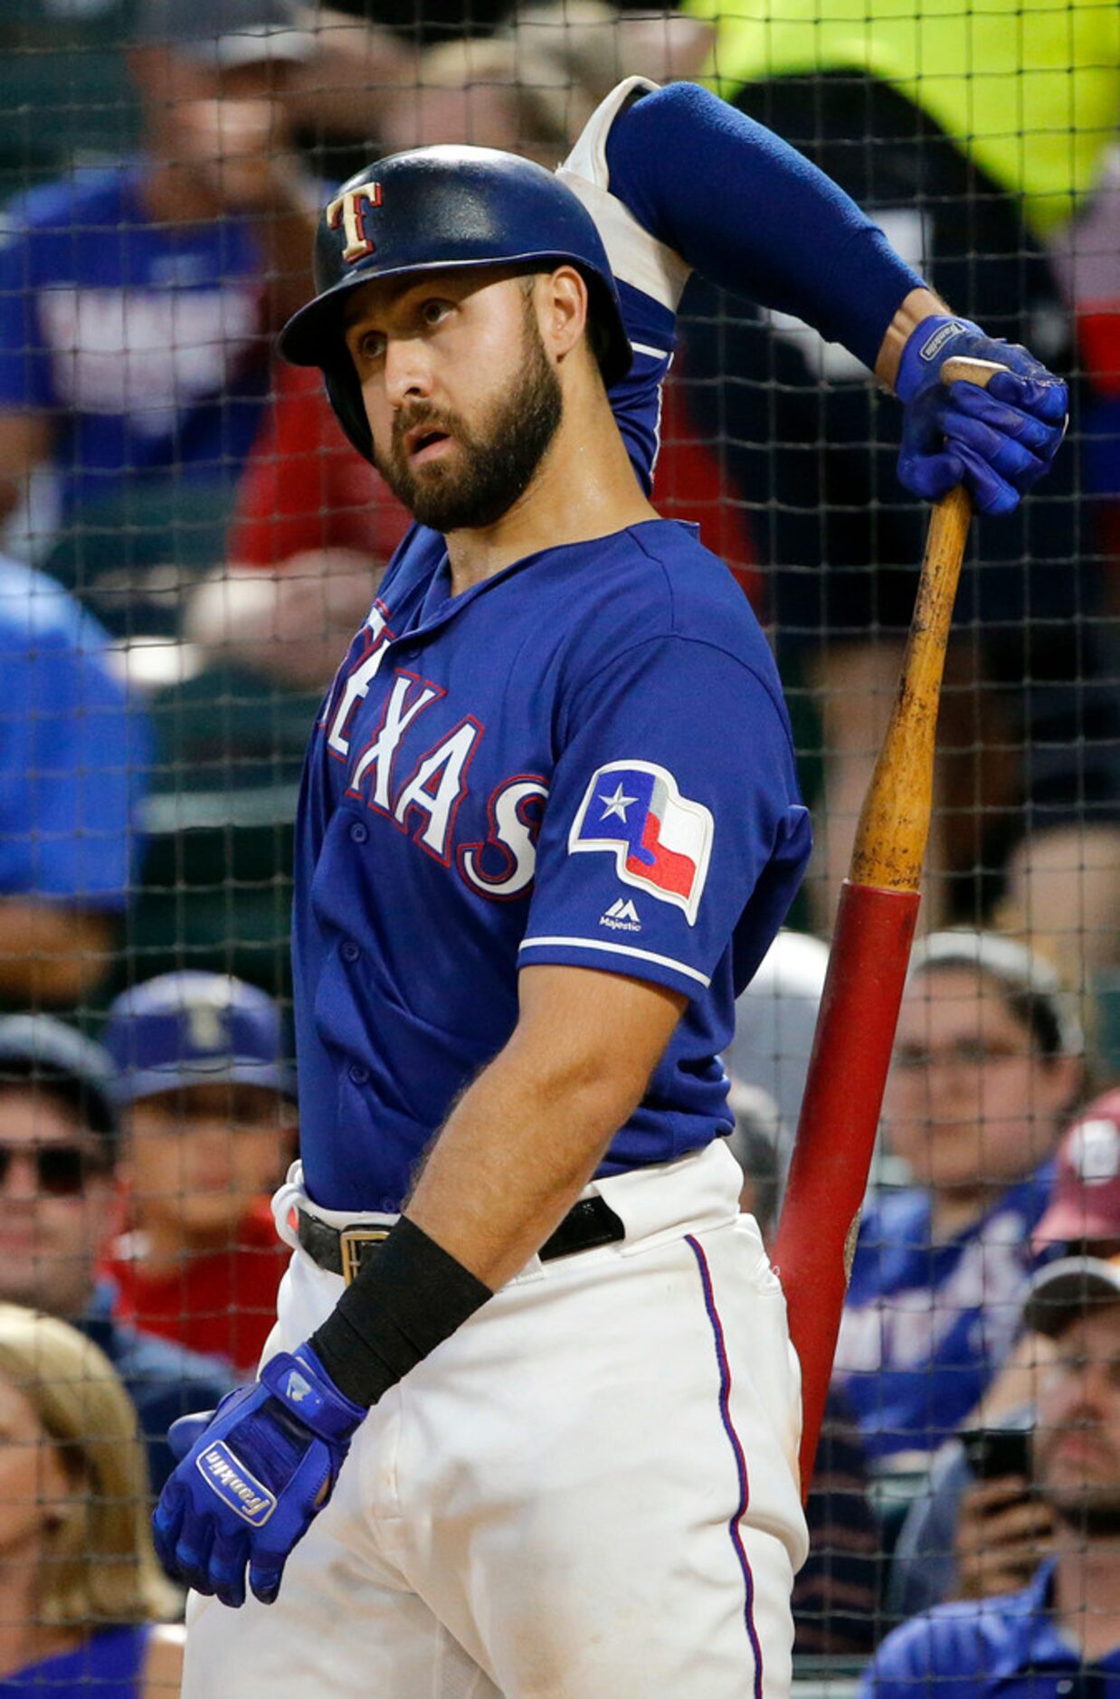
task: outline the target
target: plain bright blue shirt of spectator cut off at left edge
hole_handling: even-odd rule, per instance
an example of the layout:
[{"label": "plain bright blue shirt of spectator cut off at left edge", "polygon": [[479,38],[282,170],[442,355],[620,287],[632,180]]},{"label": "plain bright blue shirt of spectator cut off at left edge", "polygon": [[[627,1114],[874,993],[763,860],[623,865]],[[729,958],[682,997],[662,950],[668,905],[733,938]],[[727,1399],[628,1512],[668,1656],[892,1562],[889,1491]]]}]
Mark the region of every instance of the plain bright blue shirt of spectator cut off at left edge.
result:
[{"label": "plain bright blue shirt of spectator cut off at left edge", "polygon": [[150,766],[100,625],[0,557],[0,894],[122,909]]}]

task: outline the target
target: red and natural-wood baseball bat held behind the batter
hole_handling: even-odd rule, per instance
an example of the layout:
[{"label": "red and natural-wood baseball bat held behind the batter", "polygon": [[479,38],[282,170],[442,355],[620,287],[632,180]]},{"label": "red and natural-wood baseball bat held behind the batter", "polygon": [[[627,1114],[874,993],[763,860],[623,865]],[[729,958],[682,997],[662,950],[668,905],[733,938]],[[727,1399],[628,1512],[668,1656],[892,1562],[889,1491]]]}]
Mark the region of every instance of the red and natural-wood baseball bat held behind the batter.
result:
[{"label": "red and natural-wood baseball bat held behind the batter", "polygon": [[[1001,370],[989,360],[950,358],[942,381],[986,387]],[[773,1245],[802,1371],[802,1497],[812,1480],[921,900],[936,714],[970,518],[962,488],[943,496],[930,518],[902,675],[840,894]]]}]

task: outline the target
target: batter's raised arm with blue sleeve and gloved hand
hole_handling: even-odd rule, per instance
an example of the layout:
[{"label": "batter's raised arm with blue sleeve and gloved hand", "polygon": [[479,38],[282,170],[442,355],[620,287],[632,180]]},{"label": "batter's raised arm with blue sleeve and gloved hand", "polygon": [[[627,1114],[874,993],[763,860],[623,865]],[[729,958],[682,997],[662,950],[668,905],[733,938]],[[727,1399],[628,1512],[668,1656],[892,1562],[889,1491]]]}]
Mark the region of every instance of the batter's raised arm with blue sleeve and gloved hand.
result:
[{"label": "batter's raised arm with blue sleeve and gloved hand", "polygon": [[[982,511],[1008,511],[1047,471],[1066,426],[1064,384],[1025,348],[953,318],[829,177],[705,88],[620,83],[561,175],[600,226],[624,304],[637,302],[637,341],[661,314],[656,345],[671,348],[680,294],[699,270],[843,343],[896,391],[906,406],[899,477],[914,494],[964,481]],[[1010,370],[986,391],[945,391],[950,353]],[[656,404],[641,391],[649,375],[636,364],[617,396],[627,440]]]}]

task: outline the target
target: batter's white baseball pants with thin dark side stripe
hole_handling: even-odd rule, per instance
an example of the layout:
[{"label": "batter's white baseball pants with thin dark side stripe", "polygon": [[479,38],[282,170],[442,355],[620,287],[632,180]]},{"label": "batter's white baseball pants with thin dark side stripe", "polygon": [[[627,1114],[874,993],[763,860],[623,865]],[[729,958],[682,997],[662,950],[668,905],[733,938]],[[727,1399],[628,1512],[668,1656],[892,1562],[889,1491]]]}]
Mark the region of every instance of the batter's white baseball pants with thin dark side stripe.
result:
[{"label": "batter's white baseball pants with thin dark side stripe", "polygon": [[[185,1699],[783,1699],[800,1390],[739,1181],[721,1142],[590,1188],[625,1242],[534,1259],[381,1400],[277,1604],[190,1599]],[[294,1247],[269,1349],[340,1293]]]}]

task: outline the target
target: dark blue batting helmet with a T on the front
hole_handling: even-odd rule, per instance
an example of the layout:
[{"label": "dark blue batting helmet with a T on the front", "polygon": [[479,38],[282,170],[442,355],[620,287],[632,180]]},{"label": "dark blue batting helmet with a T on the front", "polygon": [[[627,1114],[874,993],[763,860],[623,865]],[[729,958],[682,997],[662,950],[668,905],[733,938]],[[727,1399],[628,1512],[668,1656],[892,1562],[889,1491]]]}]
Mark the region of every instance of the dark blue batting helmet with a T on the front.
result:
[{"label": "dark blue batting helmet with a T on the front", "polygon": [[343,299],[379,277],[461,267],[578,267],[607,384],[631,369],[619,289],[591,214],[544,167],[496,148],[415,148],[352,177],[326,204],[314,241],[316,297],[280,333],[292,365],[318,365],[347,437],[372,438],[343,338]]}]

